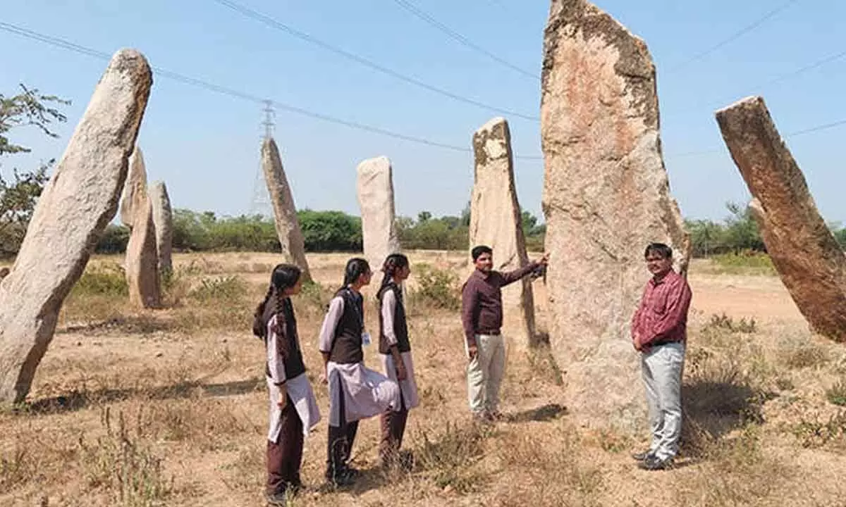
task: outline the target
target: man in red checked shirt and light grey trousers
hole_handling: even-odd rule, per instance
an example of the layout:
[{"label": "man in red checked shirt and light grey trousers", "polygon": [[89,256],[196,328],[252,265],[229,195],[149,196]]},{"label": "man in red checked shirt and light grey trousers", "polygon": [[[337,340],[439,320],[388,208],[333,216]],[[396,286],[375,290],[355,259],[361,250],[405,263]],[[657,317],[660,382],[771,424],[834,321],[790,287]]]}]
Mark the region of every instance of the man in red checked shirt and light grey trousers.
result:
[{"label": "man in red checked shirt and light grey trousers", "polygon": [[673,270],[671,248],[651,243],[645,259],[652,278],[632,319],[632,342],[640,352],[652,440],[649,450],[632,457],[645,470],[665,470],[678,454],[682,429],[682,369],[691,294],[684,276]]}]

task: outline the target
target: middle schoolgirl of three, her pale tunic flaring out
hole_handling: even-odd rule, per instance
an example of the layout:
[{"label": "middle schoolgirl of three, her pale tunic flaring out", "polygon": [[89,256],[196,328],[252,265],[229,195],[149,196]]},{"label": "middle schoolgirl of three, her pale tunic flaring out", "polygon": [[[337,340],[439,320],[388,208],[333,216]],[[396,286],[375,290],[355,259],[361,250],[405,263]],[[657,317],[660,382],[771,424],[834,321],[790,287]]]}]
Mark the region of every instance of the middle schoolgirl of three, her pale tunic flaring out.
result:
[{"label": "middle schoolgirl of three, her pale tunic flaring out", "polygon": [[327,481],[347,486],[358,472],[349,457],[360,419],[400,408],[399,386],[382,373],[365,368],[363,346],[370,344],[365,330],[361,287],[371,281],[365,259],[349,259],[343,286],[329,303],[320,334],[320,351],[329,384]]}]

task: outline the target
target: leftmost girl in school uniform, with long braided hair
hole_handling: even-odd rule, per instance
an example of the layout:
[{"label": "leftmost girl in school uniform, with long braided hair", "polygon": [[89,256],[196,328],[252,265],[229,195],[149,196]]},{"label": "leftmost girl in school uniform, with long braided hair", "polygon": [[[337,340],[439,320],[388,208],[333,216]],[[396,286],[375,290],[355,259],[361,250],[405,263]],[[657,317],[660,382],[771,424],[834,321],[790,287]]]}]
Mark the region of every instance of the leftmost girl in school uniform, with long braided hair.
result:
[{"label": "leftmost girl in school uniform, with long braided hair", "polygon": [[299,468],[303,441],[320,421],[315,395],[305,376],[290,299],[302,287],[300,275],[297,266],[277,265],[253,321],[253,333],[266,346],[265,373],[270,392],[266,499],[270,505],[284,505],[286,495],[302,487]]}]

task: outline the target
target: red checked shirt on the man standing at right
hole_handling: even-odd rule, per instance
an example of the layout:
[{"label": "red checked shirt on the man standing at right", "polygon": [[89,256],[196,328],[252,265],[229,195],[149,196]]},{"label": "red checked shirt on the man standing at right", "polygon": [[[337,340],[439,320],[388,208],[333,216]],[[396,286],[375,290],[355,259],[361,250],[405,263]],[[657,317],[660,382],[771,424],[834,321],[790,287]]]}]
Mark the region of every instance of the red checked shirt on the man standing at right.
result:
[{"label": "red checked shirt on the man standing at right", "polygon": [[661,280],[646,282],[640,306],[632,318],[632,338],[642,345],[659,345],[687,338],[690,286],[684,276],[671,270]]}]

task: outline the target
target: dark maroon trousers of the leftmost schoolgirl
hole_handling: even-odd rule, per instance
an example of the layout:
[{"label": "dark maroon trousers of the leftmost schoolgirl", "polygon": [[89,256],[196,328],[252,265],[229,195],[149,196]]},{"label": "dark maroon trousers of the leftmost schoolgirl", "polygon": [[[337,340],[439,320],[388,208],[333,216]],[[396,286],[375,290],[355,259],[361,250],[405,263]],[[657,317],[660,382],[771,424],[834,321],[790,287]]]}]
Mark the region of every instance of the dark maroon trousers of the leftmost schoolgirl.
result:
[{"label": "dark maroon trousers of the leftmost schoolgirl", "polygon": [[299,488],[299,467],[303,462],[303,422],[288,396],[282,409],[282,430],[276,442],[267,441],[268,494],[285,493],[290,487]]}]

